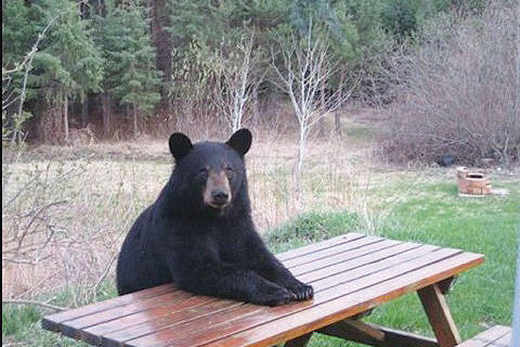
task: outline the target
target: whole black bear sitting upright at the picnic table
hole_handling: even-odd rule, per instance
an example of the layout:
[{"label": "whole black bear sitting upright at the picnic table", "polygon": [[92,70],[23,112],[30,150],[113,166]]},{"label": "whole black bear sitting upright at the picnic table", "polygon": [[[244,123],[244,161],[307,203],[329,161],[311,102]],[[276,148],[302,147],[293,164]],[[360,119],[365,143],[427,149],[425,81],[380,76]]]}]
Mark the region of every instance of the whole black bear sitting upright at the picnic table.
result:
[{"label": "whole black bear sitting upright at the picnic table", "polygon": [[244,155],[247,129],[227,142],[169,139],[173,172],[135,220],[117,264],[119,295],[174,282],[202,295],[276,306],[313,296],[255,230]]}]

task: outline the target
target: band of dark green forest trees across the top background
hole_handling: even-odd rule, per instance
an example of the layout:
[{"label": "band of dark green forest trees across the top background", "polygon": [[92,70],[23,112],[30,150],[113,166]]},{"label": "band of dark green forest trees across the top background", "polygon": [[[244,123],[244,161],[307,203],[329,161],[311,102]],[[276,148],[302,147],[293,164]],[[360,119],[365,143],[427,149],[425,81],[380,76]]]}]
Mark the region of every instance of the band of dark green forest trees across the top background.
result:
[{"label": "band of dark green forest trees across the top background", "polygon": [[[136,118],[160,114],[158,107],[165,107],[165,98],[168,112],[174,115],[170,118],[191,121],[204,117],[224,125],[221,103],[230,95],[230,66],[244,62],[244,38],[253,38],[255,64],[247,75],[273,74],[266,59],[273,44],[289,44],[292,35],[304,37],[312,17],[313,37],[326,43],[327,60],[338,66],[323,88],[350,88],[346,81],[355,78],[360,82],[354,94],[374,101],[388,89],[386,57],[394,50],[394,42],[414,40],[422,24],[439,12],[470,15],[481,11],[484,3],[6,0],[2,1],[2,67],[9,69],[23,62],[38,35],[50,26],[30,67],[29,102],[23,105],[24,111],[35,114],[44,140],[66,138],[69,120],[73,127],[79,124],[75,124],[75,111],[87,101],[91,110],[88,120],[101,118],[99,110],[106,108],[98,105],[104,100],[96,98],[101,94],[116,106],[106,112],[127,115],[125,110],[132,110],[134,133]],[[169,59],[171,62],[165,61]],[[284,68],[283,64],[278,67]],[[11,86],[21,89],[21,74],[13,76]],[[246,118],[255,113],[258,100],[280,93],[269,79],[256,87],[246,83],[243,90],[255,90],[247,98],[248,104],[239,107]]]}]

